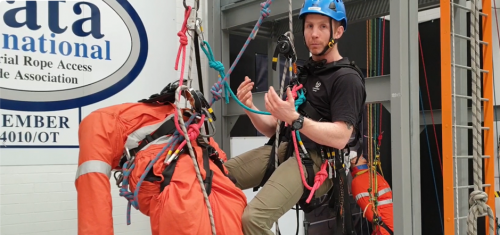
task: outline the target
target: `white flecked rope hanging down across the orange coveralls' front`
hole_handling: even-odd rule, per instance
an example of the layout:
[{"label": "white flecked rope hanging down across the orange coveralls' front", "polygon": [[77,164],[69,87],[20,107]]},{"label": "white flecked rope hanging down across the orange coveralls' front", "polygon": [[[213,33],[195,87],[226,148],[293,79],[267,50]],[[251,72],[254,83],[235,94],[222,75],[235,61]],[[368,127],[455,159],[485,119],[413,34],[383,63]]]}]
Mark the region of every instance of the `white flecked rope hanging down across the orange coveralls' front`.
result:
[{"label": "white flecked rope hanging down across the orange coveralls' front", "polygon": [[203,183],[203,177],[201,176],[201,173],[200,173],[200,167],[198,166],[198,161],[196,159],[196,154],[194,153],[193,145],[191,144],[191,139],[189,138],[189,134],[187,132],[187,129],[186,129],[186,126],[185,126],[185,123],[184,123],[184,117],[182,115],[182,110],[178,106],[178,104],[180,102],[180,100],[179,100],[179,94],[182,91],[188,92],[188,89],[189,88],[187,86],[185,86],[185,85],[182,85],[182,86],[180,86],[180,87],[177,88],[177,90],[175,91],[175,104],[176,104],[175,106],[176,106],[176,109],[177,109],[177,115],[179,117],[179,125],[180,125],[180,127],[182,129],[182,132],[183,132],[182,134],[184,136],[184,139],[186,140],[186,145],[188,146],[188,149],[189,149],[189,155],[191,156],[191,159],[193,160],[194,169],[196,171],[196,178],[198,179],[198,182],[200,183],[201,192],[203,193],[203,198],[205,199],[205,203],[207,204],[208,217],[210,219],[210,225],[212,226],[212,235],[216,235],[215,220],[214,220],[214,215],[213,215],[213,212],[212,212],[212,206],[210,205],[210,200],[208,200],[208,194],[207,194],[207,191],[205,189],[205,184]]}]

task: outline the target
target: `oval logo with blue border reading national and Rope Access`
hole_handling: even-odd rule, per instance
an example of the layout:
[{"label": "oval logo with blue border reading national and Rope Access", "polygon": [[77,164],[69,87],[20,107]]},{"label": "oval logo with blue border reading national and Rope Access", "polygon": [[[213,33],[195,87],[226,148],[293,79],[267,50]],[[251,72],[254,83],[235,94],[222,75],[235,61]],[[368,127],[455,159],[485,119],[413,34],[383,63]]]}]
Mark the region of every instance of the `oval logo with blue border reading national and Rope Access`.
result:
[{"label": "oval logo with blue border reading national and Rope Access", "polygon": [[127,0],[0,5],[0,109],[96,103],[130,85],[146,63],[146,29]]}]

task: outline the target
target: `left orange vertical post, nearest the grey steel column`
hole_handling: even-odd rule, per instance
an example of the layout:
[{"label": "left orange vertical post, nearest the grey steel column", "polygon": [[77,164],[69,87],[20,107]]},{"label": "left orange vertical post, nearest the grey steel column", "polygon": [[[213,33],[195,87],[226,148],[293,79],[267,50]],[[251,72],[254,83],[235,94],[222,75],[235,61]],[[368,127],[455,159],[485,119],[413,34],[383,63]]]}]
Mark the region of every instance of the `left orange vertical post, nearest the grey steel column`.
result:
[{"label": "left orange vertical post, nearest the grey steel column", "polygon": [[453,119],[451,90],[451,13],[450,0],[440,0],[441,20],[441,116],[443,145],[444,235],[455,234],[453,195]]}]

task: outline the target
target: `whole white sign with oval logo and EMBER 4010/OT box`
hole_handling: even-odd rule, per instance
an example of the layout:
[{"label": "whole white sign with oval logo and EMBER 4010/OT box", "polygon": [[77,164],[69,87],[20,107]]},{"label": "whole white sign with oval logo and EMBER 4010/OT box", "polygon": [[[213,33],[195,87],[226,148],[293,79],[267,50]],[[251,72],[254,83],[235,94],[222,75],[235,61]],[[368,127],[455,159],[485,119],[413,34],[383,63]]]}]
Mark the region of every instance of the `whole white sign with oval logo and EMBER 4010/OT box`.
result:
[{"label": "whole white sign with oval logo and EMBER 4010/OT box", "polygon": [[153,2],[1,0],[0,148],[76,148],[86,114],[178,79],[175,4]]}]

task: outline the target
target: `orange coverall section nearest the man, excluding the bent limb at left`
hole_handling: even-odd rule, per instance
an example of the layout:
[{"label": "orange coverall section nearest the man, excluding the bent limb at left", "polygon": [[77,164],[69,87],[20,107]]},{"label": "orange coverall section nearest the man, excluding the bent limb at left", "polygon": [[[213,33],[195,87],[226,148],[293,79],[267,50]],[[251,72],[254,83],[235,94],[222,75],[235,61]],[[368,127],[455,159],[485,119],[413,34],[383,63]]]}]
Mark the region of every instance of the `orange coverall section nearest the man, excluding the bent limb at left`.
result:
[{"label": "orange coverall section nearest the man, excluding the bent limb at left", "polygon": [[[217,143],[211,139],[210,145],[219,152],[219,156],[225,161],[226,156]],[[139,152],[136,167],[138,169],[146,168],[163,147],[163,144],[152,145]],[[194,145],[193,148],[200,173],[202,178],[205,178],[203,151],[197,145]],[[153,166],[154,174],[161,177],[162,181],[165,157],[166,153]],[[210,160],[209,166],[213,171],[209,201],[217,234],[242,235],[241,215],[246,207],[245,194],[236,188],[234,183]],[[224,171],[227,172],[225,169]],[[135,190],[140,177],[139,172],[132,173],[131,190]],[[189,154],[185,153],[179,157],[170,184],[165,187],[161,194],[159,193],[159,185],[160,181],[143,182],[139,191],[140,195],[142,194],[142,197],[139,197],[139,208],[141,212],[151,217],[153,235],[212,234],[208,209]]]}]

